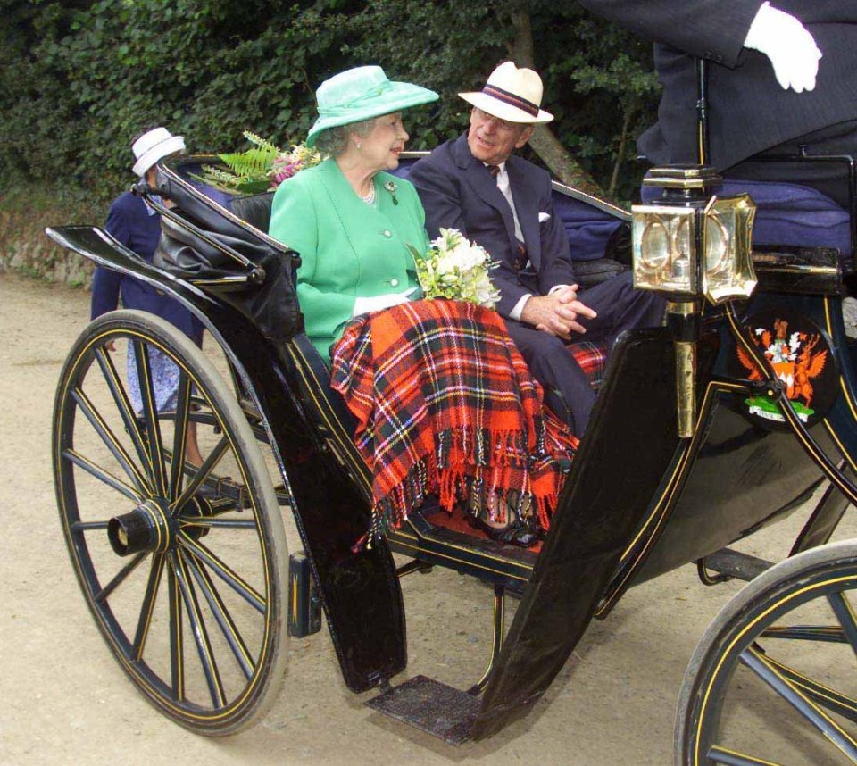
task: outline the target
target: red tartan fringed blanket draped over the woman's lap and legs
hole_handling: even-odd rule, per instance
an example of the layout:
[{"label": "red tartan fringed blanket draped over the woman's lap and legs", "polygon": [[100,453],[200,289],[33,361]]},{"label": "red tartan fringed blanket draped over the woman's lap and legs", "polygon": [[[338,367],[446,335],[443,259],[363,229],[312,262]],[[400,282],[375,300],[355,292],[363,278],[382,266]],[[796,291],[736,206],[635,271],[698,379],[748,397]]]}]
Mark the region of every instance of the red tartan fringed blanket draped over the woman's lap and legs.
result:
[{"label": "red tartan fringed blanket draped over the woman's lap and legs", "polygon": [[[370,539],[398,527],[428,493],[487,507],[507,495],[546,529],[578,445],[506,333],[475,304],[422,300],[354,320],[332,350],[332,386],[357,419],[373,474]],[[498,499],[504,502],[496,502]]]}]

